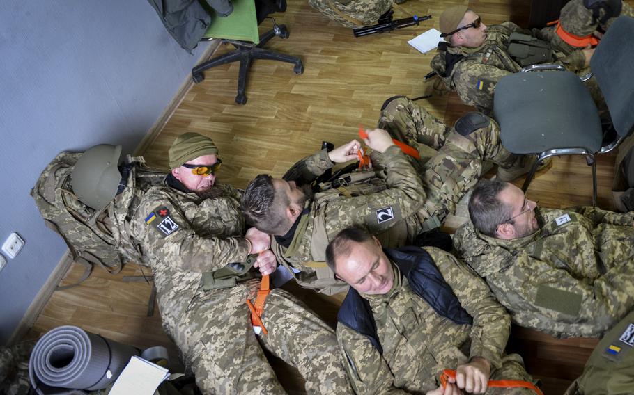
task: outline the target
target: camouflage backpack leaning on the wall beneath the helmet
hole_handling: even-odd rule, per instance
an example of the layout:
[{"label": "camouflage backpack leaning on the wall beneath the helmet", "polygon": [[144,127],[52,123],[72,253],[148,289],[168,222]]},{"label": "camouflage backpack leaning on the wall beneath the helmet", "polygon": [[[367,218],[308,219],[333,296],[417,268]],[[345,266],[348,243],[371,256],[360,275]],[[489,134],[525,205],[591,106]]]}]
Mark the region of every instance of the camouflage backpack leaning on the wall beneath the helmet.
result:
[{"label": "camouflage backpack leaning on the wall beneath the helmet", "polygon": [[146,167],[141,156],[128,155],[120,168],[123,177],[116,197],[104,209],[95,211],[72,191],[70,177],[80,156],[81,152],[61,152],[55,156],[31,189],[31,197],[47,227],[68,245],[72,259],[86,266],[79,280],[82,282],[93,266],[116,274],[127,261],[144,264],[139,246],[129,236],[130,214],[144,193],[160,184],[166,174]]}]

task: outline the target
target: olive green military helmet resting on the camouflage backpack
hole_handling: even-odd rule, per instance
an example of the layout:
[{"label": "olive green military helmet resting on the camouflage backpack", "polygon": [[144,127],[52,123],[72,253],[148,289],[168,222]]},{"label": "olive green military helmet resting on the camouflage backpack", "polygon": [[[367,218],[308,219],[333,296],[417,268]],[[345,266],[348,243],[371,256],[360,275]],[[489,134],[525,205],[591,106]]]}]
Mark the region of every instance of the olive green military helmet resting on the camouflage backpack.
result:
[{"label": "olive green military helmet resting on the camouflage backpack", "polygon": [[121,145],[99,144],[79,157],[70,176],[77,198],[95,210],[101,210],[116,195],[121,173],[117,165]]}]

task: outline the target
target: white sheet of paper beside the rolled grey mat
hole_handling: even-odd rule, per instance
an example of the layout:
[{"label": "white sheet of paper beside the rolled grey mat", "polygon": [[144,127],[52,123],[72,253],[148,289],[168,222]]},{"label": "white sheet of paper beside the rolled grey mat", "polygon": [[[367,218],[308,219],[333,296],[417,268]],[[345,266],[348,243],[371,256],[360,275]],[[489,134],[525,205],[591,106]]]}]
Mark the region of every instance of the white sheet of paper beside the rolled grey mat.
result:
[{"label": "white sheet of paper beside the rolled grey mat", "polygon": [[114,382],[110,395],[153,395],[167,378],[167,369],[134,356]]}]

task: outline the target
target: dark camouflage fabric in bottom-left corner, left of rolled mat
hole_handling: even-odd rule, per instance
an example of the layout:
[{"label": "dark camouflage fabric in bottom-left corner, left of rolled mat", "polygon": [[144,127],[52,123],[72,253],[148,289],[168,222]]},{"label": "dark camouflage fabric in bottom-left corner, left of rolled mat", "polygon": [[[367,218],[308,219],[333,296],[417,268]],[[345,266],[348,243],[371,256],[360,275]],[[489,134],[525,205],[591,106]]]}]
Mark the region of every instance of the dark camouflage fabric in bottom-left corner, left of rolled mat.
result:
[{"label": "dark camouflage fabric in bottom-left corner, left of rolled mat", "polygon": [[29,394],[29,356],[35,345],[33,340],[0,347],[0,394]]}]

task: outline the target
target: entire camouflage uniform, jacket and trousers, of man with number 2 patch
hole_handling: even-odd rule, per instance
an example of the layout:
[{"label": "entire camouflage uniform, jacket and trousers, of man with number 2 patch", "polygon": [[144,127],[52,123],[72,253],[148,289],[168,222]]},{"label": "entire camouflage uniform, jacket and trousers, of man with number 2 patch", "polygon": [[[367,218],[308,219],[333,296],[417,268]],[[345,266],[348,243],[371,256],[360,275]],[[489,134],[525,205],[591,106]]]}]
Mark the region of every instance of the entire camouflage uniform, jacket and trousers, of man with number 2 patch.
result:
[{"label": "entire camouflage uniform, jacket and trousers, of man with number 2 patch", "polygon": [[[403,109],[415,111],[401,111]],[[399,111],[399,115],[393,116]],[[291,245],[281,245],[279,237],[272,242],[271,249],[279,263],[290,271],[301,271],[295,273],[295,279],[302,287],[336,293],[344,291],[347,284],[335,280],[325,263],[318,264],[318,261],[325,260],[328,241],[342,229],[364,228],[378,235],[385,248],[394,248],[411,245],[418,234],[440,225],[448,213],[456,211],[459,200],[481,177],[484,161],[510,166],[517,159],[502,147],[497,123],[483,119],[486,124],[463,136],[453,128],[444,127],[424,108],[405,97],[389,102],[380,126],[419,152],[431,149],[432,152],[439,150],[438,154],[431,159],[422,156],[421,161],[417,161],[405,156],[396,146],[389,147],[384,154],[374,152],[373,163],[385,168],[387,189],[353,197],[341,193],[327,201],[316,195],[307,201],[308,213],[300,218],[303,226],[297,227]],[[332,166],[323,150],[296,163],[284,179],[298,184],[312,182]],[[380,218],[385,211],[391,213],[391,218]],[[318,232],[321,223],[325,229]]]}]

